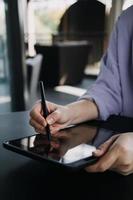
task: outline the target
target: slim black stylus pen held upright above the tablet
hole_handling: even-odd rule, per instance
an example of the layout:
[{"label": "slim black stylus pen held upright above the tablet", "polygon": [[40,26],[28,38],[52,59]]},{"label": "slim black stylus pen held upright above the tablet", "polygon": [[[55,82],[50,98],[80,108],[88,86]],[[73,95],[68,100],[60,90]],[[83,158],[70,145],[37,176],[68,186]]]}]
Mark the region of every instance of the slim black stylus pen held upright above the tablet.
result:
[{"label": "slim black stylus pen held upright above the tablet", "polygon": [[[40,81],[40,92],[41,92],[41,104],[42,104],[42,111],[43,111],[43,116],[46,119],[46,117],[49,115],[49,111],[46,105],[46,100],[45,100],[45,91],[44,91],[44,85],[43,85],[43,81]],[[51,141],[51,133],[50,133],[50,129],[49,129],[49,125],[47,124],[46,126],[46,134],[48,137],[48,141]]]}]

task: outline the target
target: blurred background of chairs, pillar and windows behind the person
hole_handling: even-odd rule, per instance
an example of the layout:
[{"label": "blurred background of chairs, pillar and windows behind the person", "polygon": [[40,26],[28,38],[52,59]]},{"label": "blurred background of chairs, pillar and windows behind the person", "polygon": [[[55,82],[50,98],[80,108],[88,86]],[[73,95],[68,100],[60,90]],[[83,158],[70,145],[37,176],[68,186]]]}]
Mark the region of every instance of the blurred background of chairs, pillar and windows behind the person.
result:
[{"label": "blurred background of chairs, pillar and windows behind the person", "polygon": [[110,33],[133,0],[0,0],[0,113],[75,101],[95,82]]}]

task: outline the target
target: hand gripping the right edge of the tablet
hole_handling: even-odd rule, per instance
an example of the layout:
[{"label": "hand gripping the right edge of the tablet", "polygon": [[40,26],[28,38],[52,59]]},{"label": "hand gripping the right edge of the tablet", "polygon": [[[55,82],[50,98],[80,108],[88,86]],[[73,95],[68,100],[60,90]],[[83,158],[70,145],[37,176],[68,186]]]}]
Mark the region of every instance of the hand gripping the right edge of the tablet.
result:
[{"label": "hand gripping the right edge of the tablet", "polygon": [[123,175],[133,173],[133,133],[112,136],[94,155],[100,159],[86,168],[88,172],[104,172],[109,169]]}]

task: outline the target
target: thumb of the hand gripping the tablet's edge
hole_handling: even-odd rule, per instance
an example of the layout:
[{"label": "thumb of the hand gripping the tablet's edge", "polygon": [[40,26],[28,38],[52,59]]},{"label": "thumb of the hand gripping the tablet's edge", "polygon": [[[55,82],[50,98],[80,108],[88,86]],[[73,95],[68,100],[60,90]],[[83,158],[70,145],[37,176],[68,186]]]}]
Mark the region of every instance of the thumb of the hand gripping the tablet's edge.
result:
[{"label": "thumb of the hand gripping the tablet's edge", "polygon": [[93,155],[96,156],[96,157],[100,157],[100,156],[104,155],[108,151],[110,146],[113,144],[113,142],[118,138],[118,136],[119,136],[119,134],[114,135],[109,140],[107,140],[102,145],[100,145],[96,149],[96,151],[93,153]]}]

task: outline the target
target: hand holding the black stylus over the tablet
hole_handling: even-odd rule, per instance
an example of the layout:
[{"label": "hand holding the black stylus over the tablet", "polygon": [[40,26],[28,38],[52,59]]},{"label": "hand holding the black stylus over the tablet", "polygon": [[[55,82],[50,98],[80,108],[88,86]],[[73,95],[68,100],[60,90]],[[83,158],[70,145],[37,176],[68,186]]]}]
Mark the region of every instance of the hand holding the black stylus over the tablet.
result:
[{"label": "hand holding the black stylus over the tablet", "polygon": [[49,124],[51,133],[55,133],[71,124],[71,110],[67,106],[47,102],[49,115],[43,117],[41,103],[37,102],[30,112],[30,125],[38,133],[44,133],[45,127]]}]

